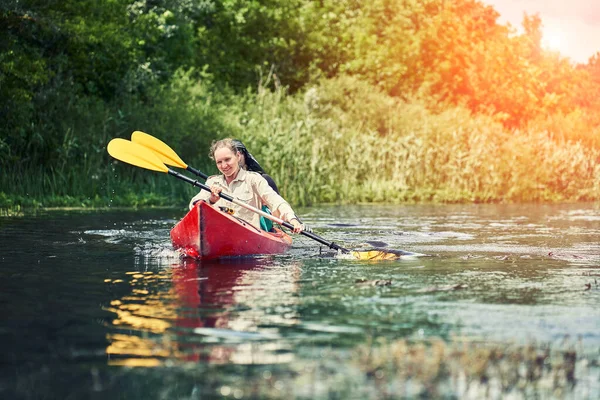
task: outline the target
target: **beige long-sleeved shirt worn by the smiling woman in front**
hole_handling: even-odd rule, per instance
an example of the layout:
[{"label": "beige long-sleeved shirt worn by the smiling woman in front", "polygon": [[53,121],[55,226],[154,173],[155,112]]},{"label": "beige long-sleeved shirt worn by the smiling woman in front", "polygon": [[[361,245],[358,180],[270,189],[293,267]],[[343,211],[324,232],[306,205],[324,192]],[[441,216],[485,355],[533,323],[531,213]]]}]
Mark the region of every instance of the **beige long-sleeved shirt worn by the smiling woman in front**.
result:
[{"label": "beige long-sleeved shirt worn by the smiling woman in front", "polygon": [[[290,222],[293,218],[296,218],[292,207],[278,195],[267,183],[265,178],[256,172],[246,171],[240,169],[237,177],[227,184],[225,176],[213,175],[206,180],[207,186],[219,186],[223,189],[224,194],[228,194],[244,203],[251,205],[252,207],[261,209],[262,205],[265,204],[269,207],[274,216],[283,219],[284,221]],[[190,201],[190,210],[194,207],[194,203],[199,200],[208,201],[210,198],[210,192],[207,190],[201,190],[196,196]],[[245,221],[250,222],[252,225],[260,228],[260,216],[250,210],[247,210],[237,204],[230,201],[219,199],[215,203],[218,207],[229,207],[234,210],[234,216],[241,218]]]}]

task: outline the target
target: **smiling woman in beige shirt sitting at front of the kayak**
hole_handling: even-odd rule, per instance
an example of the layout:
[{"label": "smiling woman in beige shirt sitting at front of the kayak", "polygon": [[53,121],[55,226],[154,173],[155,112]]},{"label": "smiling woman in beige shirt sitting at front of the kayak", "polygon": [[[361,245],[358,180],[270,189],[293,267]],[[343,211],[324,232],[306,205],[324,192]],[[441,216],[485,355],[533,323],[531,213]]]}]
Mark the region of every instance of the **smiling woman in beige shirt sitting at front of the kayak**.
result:
[{"label": "smiling woman in beige shirt sitting at front of the kayak", "polygon": [[267,205],[273,215],[294,226],[294,233],[302,232],[304,226],[296,217],[292,207],[269,186],[260,174],[246,171],[241,167],[242,154],[232,139],[227,138],[213,142],[209,155],[211,159],[215,160],[222,175],[213,175],[207,179],[206,185],[210,187],[210,193],[201,190],[190,201],[190,209],[197,201],[205,200],[213,205],[232,208],[237,217],[248,221],[257,228],[260,227],[257,213],[219,197],[219,193],[225,191],[255,208],[260,209],[263,204]]}]

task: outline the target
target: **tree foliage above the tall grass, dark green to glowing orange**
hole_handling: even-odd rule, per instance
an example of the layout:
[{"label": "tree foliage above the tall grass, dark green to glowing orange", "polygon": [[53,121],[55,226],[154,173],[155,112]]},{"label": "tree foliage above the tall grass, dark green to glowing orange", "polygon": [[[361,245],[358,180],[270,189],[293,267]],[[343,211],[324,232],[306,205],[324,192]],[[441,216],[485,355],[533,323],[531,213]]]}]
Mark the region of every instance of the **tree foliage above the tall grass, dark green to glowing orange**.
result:
[{"label": "tree foliage above the tall grass, dark green to glowing orange", "polygon": [[[479,0],[4,0],[0,168],[62,173],[109,134],[136,129],[145,114],[125,110],[156,109],[181,82],[213,92],[172,90],[191,93],[187,109],[156,119],[186,115],[182,126],[197,123],[204,143],[226,132],[190,110],[219,93],[267,81],[302,93],[345,76],[433,113],[464,107],[511,134],[600,148],[600,53],[575,65],[542,47],[542,27],[537,15],[522,31],[501,25]],[[373,109],[356,106],[368,98],[351,93],[339,106],[368,120]]]}]

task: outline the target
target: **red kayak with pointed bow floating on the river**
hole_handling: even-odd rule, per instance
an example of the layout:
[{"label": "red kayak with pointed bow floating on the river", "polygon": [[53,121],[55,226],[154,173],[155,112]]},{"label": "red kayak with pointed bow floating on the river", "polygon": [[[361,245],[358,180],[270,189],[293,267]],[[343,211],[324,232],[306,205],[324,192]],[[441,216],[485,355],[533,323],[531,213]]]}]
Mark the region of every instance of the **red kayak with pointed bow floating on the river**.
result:
[{"label": "red kayak with pointed bow floating on the river", "polygon": [[199,201],[171,229],[173,247],[200,259],[284,253],[292,238],[281,230],[265,232]]}]

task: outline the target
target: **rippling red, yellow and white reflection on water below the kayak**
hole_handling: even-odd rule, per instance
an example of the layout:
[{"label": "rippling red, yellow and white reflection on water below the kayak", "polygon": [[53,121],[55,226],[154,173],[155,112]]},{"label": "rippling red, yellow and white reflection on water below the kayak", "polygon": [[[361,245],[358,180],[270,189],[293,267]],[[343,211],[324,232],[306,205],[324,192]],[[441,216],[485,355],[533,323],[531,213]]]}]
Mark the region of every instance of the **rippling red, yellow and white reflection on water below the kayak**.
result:
[{"label": "rippling red, yellow and white reflection on water below the kayak", "polygon": [[299,274],[297,264],[270,258],[184,259],[160,273],[133,273],[131,292],[109,308],[109,363],[289,362],[280,327],[298,323]]}]

